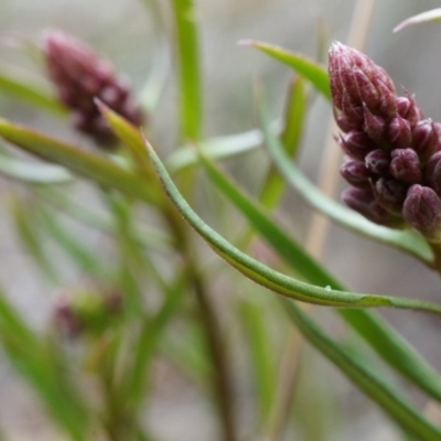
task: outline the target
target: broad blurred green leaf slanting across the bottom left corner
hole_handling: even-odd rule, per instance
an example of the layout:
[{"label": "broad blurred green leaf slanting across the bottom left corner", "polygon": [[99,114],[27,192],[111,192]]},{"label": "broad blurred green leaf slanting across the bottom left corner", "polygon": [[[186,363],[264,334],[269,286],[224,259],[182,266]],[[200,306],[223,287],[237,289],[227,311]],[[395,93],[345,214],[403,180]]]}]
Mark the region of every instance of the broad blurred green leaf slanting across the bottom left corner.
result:
[{"label": "broad blurred green leaf slanting across the bottom left corner", "polygon": [[47,347],[0,293],[0,340],[9,359],[32,385],[49,412],[74,441],[86,441],[89,416],[69,379]]}]

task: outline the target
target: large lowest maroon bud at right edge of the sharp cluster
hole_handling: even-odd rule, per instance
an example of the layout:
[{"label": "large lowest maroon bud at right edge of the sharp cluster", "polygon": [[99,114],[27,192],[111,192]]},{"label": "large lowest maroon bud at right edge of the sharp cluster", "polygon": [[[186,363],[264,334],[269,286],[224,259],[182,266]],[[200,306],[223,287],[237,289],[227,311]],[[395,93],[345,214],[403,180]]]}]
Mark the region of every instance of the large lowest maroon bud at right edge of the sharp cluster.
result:
[{"label": "large lowest maroon bud at right edge of the sharp cluster", "polygon": [[402,217],[430,241],[441,240],[441,201],[432,189],[412,185],[407,193]]}]

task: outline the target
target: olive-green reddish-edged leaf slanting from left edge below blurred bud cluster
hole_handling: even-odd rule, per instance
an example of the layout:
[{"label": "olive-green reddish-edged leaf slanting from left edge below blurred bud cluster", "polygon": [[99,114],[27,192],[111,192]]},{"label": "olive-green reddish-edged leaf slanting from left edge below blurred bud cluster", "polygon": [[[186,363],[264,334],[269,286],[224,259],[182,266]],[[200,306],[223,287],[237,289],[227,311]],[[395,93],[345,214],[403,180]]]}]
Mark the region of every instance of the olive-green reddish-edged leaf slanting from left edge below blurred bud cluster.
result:
[{"label": "olive-green reddish-edged leaf slanting from left edge below blurred bud cluster", "polygon": [[158,192],[141,176],[122,169],[104,157],[88,153],[25,127],[0,119],[0,136],[7,141],[47,161],[65,166],[74,173],[101,185],[116,189],[148,203],[158,204]]}]

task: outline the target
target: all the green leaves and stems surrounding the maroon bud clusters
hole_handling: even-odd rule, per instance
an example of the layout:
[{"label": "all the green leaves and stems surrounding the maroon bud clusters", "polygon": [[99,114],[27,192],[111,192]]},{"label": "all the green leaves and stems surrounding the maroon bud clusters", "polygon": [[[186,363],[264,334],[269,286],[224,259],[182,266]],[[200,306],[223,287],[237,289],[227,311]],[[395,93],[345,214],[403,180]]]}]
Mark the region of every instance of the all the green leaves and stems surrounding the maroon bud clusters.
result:
[{"label": "all the green leaves and stems surrounding the maroon bud clusters", "polygon": [[[169,31],[174,43],[182,144],[169,157],[163,159],[161,140],[153,149],[151,127],[132,126],[97,99],[90,105],[98,106],[119,150],[83,149],[12,122],[7,115],[0,119],[0,173],[12,181],[8,213],[23,250],[61,293],[43,330],[32,329],[8,293],[0,293],[0,344],[17,374],[54,426],[74,441],[157,439],[146,413],[155,399],[154,381],[162,365],[209,402],[207,411],[216,415],[219,438],[243,439],[246,419],[251,421],[246,427],[249,439],[277,440],[287,438],[295,424],[293,401],[302,406],[293,361],[301,358],[304,338],[384,411],[404,439],[441,439],[440,429],[396,386],[404,377],[427,398],[441,401],[440,374],[375,311],[423,311],[439,320],[441,304],[424,301],[419,293],[409,299],[353,292],[305,250],[295,238],[297,225],[284,227],[276,213],[284,192],[293,190],[342,227],[440,271],[439,251],[420,234],[366,220],[325,196],[295,165],[301,148],[308,148],[302,139],[311,92],[331,97],[325,68],[271,44],[241,42],[295,71],[286,88],[284,112],[271,122],[260,88],[260,128],[205,139],[197,3],[170,0],[168,18],[159,3],[144,4],[154,15],[161,42],[158,65],[139,94],[150,112],[168,82],[162,40]],[[438,17],[432,12],[411,22]],[[53,117],[68,111],[44,89],[3,71],[2,94]],[[60,118],[56,123],[68,121]],[[18,150],[42,161],[24,160]],[[259,169],[258,190],[250,194],[241,176],[230,178],[217,162],[239,157],[254,161],[257,150],[271,161]],[[204,197],[216,197],[216,213],[211,212],[213,204],[201,203],[201,182]],[[89,193],[86,200],[82,189]],[[222,234],[203,220],[219,213],[219,225],[228,219],[218,228]],[[244,226],[237,243],[230,219]],[[74,225],[99,234],[105,245],[88,243]],[[200,237],[220,261],[200,247]],[[78,273],[74,283],[63,265]],[[330,330],[326,321],[312,319],[313,305],[335,313],[346,325],[345,335],[358,334],[359,347],[348,349],[344,335]],[[284,351],[292,352],[288,378],[281,366]],[[329,385],[331,391],[333,387]],[[323,395],[314,398],[327,409],[320,406]],[[244,396],[252,401],[247,406],[252,418],[237,406],[237,397]],[[332,417],[319,411],[313,417],[321,420],[311,422],[301,413],[298,418],[304,418],[304,427],[316,423],[318,432],[326,433]],[[330,430],[336,433],[335,427]]]}]

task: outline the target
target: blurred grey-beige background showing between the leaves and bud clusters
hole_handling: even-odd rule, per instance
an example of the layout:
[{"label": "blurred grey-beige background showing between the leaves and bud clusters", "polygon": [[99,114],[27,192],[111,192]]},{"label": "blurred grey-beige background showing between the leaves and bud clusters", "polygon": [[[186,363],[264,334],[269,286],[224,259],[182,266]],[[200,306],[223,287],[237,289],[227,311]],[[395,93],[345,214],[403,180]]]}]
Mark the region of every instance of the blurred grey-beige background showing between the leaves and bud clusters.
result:
[{"label": "blurred grey-beige background showing between the leaves and bud clusters", "polygon": [[[166,15],[166,1],[161,0]],[[240,132],[257,127],[254,83],[261,80],[266,87],[273,118],[283,110],[284,96],[291,73],[289,69],[250,49],[239,46],[241,39],[255,39],[303,53],[312,58],[323,56],[319,33],[325,29],[327,39],[347,42],[354,12],[351,0],[200,0],[202,53],[205,92],[205,136],[213,137]],[[378,1],[372,17],[365,42],[366,52],[386,68],[397,88],[402,85],[416,98],[424,115],[441,120],[441,24],[430,23],[406,29],[397,34],[392,29],[404,19],[437,8],[439,2],[421,0]],[[77,35],[110,58],[119,71],[140,89],[157,60],[158,47],[170,54],[170,42],[158,37],[152,14],[141,0],[1,0],[0,1],[0,67],[41,82],[37,63],[23,56],[11,44],[17,39],[37,42],[42,31],[60,28]],[[172,52],[172,50],[171,50]],[[178,143],[176,94],[171,68],[158,110],[150,116],[153,138],[164,152]],[[19,121],[53,136],[86,144],[87,142],[67,127],[60,127],[47,116],[0,95],[1,116]],[[321,99],[313,104],[308,119],[300,154],[302,169],[316,180],[325,144],[329,106]],[[256,161],[256,162],[252,162]],[[229,170],[250,192],[256,189],[256,164],[265,163],[263,154],[229,162]],[[3,202],[8,200],[11,183],[0,178]],[[341,189],[344,183],[340,182]],[[94,204],[86,185],[76,192]],[[57,289],[47,286],[18,244],[6,205],[0,206],[0,280],[11,301],[37,329],[45,326],[51,315]],[[301,239],[308,229],[311,213],[293,194],[287,194],[279,213],[290,233]],[[209,218],[209,215],[208,215]],[[76,234],[105,252],[106,240],[95,230],[73,224]],[[325,266],[358,292],[387,293],[440,301],[439,277],[410,257],[381,245],[359,238],[340,227],[331,226],[322,256]],[[64,279],[74,284],[82,275],[66,265]],[[439,322],[434,319],[406,311],[385,311],[387,319],[438,369],[441,369]],[[326,320],[332,318],[320,312]],[[309,396],[309,406],[298,409],[314,418],[316,406],[333,409],[336,428],[331,440],[352,441],[395,440],[396,432],[375,406],[327,363],[313,358],[314,374],[304,375],[300,388]],[[305,362],[306,363],[306,362]],[[169,369],[170,370],[170,369]],[[155,400],[150,404],[147,417],[159,439],[207,440],[213,439],[213,421],[205,404],[192,388],[166,367],[158,369]],[[246,373],[244,374],[246,376]],[[245,378],[246,380],[246,378]],[[314,396],[321,396],[314,402]],[[420,405],[423,401],[416,396]],[[245,402],[245,401],[244,401]],[[334,405],[336,407],[334,407]],[[60,439],[46,424],[44,413],[32,392],[15,377],[8,362],[0,356],[0,423],[8,440]],[[311,426],[311,424],[310,424]],[[312,424],[313,426],[313,424]],[[366,433],[366,437],[364,437]],[[375,435],[374,435],[375,433]],[[295,440],[320,441],[320,434],[300,431]]]}]

